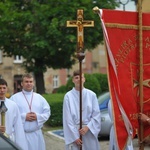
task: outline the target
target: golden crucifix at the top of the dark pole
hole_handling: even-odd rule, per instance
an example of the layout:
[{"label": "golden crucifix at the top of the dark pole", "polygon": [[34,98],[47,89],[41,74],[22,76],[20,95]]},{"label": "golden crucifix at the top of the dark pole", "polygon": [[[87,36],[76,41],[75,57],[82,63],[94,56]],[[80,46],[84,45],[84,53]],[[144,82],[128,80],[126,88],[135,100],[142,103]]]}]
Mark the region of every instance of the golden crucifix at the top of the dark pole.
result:
[{"label": "golden crucifix at the top of the dark pole", "polygon": [[77,20],[67,21],[67,27],[77,28],[77,53],[83,52],[84,27],[94,27],[94,21],[84,20],[83,10],[77,10]]}]

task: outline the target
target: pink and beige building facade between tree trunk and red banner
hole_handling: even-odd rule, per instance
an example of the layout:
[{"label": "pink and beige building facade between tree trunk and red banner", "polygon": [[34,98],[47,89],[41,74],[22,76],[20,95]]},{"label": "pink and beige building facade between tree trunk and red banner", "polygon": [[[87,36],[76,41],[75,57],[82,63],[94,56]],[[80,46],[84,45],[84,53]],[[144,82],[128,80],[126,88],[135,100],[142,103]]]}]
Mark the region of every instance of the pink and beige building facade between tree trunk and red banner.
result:
[{"label": "pink and beige building facade between tree trunk and red banner", "polygon": [[[72,69],[53,70],[48,68],[44,74],[46,93],[55,92],[55,90],[67,83],[68,77],[72,76],[73,71],[79,69],[79,61],[77,60]],[[99,45],[92,52],[85,52],[85,59],[82,61],[82,71],[84,73],[103,73],[106,74],[105,49],[103,45]]]}]

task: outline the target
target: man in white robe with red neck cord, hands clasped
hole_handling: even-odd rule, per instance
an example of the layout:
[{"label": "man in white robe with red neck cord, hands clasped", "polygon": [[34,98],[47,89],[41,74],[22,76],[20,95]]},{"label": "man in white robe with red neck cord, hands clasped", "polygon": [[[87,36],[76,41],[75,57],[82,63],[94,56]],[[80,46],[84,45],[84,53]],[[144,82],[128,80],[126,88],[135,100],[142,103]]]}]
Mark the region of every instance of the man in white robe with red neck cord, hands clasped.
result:
[{"label": "man in white robe with red neck cord, hands clasped", "polygon": [[50,117],[50,106],[46,99],[33,91],[34,78],[31,74],[22,77],[22,91],[12,95],[19,107],[29,150],[45,150],[41,128]]}]

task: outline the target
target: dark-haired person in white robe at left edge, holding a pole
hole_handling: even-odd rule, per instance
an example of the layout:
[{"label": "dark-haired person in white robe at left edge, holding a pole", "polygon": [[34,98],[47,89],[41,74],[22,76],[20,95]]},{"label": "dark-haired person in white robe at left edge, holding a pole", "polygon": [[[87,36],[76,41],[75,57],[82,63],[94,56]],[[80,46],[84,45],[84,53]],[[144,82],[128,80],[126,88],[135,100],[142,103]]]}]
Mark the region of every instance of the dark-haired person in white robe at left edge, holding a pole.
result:
[{"label": "dark-haired person in white robe at left edge, holding a pole", "polygon": [[4,79],[0,79],[0,105],[3,109],[6,106],[5,126],[1,125],[0,114],[0,132],[15,142],[22,150],[28,150],[19,108],[15,102],[5,97],[7,90],[7,82]]}]

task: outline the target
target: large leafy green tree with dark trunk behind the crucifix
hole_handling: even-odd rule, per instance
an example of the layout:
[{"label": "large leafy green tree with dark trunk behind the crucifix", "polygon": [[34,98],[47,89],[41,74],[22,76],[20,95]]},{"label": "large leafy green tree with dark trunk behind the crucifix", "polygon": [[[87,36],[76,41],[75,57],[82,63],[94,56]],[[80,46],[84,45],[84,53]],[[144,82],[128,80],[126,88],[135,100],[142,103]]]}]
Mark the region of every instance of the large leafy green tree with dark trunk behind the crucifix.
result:
[{"label": "large leafy green tree with dark trunk behind the crucifix", "polygon": [[23,56],[27,72],[33,72],[37,92],[45,93],[43,73],[47,68],[71,68],[75,63],[76,29],[67,20],[76,19],[77,9],[95,27],[85,29],[85,49],[102,40],[99,17],[92,8],[114,9],[115,0],[3,0],[0,1],[0,49],[6,56]]}]

